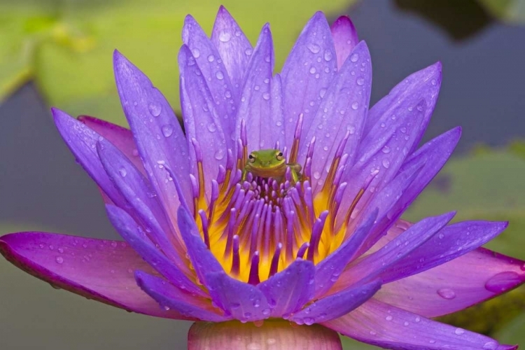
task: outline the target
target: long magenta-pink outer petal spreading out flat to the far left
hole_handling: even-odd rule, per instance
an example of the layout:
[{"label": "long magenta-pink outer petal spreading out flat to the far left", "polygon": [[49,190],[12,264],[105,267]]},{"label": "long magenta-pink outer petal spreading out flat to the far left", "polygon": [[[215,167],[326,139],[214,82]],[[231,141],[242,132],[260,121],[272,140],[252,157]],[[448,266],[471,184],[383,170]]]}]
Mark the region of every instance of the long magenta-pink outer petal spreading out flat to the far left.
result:
[{"label": "long magenta-pink outer petal spreading out flat to the far left", "polygon": [[0,237],[0,253],[29,274],[84,297],[140,314],[188,319],[162,311],[137,286],[134,270],[155,272],[123,241],[20,232]]}]

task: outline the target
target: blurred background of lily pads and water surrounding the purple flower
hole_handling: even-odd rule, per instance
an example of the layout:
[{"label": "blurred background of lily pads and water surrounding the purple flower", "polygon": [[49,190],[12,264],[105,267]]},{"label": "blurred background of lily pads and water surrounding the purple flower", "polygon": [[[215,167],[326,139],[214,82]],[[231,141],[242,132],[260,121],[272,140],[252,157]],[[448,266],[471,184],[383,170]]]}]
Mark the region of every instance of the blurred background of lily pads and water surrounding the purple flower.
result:
[{"label": "blurred background of lily pads and water surrounding the purple flower", "polygon": [[[277,69],[316,10],[350,15],[372,52],[372,104],[441,60],[426,140],[456,125],[453,160],[407,213],[418,220],[509,220],[489,248],[525,259],[525,1],[0,0],[0,235],[48,230],[117,239],[92,181],[52,125],[49,106],[125,125],[111,54],[118,48],[179,111],[184,16],[209,33],[225,5],[255,43],[272,25]],[[128,314],[57,291],[0,260],[1,349],[185,349],[190,323]],[[525,344],[525,290],[468,310],[465,328]],[[458,317],[444,321],[457,323]],[[489,322],[486,322],[489,320]],[[345,341],[346,349],[372,346]]]}]

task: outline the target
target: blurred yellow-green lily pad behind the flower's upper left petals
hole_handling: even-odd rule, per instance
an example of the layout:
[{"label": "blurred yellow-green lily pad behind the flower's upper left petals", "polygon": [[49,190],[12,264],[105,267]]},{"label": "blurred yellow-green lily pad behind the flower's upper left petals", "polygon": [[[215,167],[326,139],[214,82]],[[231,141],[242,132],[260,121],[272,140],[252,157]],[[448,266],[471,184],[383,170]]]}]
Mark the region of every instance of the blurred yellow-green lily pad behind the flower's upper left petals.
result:
[{"label": "blurred yellow-green lily pad behind the flower's upper left petals", "polygon": [[[112,53],[118,48],[179,109],[177,52],[190,13],[211,31],[225,5],[252,43],[271,22],[276,67],[316,10],[337,13],[354,0],[292,1],[17,1],[0,4],[0,99],[34,78],[52,106],[125,124],[116,94]],[[290,15],[293,14],[293,15]],[[5,20],[5,21],[4,21]],[[22,59],[21,59],[22,57]],[[278,68],[279,69],[279,68]],[[180,109],[179,109],[180,110]]]}]

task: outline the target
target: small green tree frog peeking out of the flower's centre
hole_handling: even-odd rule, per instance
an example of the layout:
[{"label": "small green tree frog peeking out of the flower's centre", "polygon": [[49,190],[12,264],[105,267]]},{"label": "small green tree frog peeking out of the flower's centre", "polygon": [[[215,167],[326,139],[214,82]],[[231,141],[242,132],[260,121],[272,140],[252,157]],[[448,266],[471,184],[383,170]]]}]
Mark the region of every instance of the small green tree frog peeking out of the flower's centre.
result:
[{"label": "small green tree frog peeking out of the flower's centre", "polygon": [[294,183],[299,181],[301,166],[297,163],[287,163],[281,151],[276,149],[253,151],[248,155],[248,162],[242,170],[241,181],[246,180],[248,173],[281,181],[288,168],[290,168],[292,181]]}]

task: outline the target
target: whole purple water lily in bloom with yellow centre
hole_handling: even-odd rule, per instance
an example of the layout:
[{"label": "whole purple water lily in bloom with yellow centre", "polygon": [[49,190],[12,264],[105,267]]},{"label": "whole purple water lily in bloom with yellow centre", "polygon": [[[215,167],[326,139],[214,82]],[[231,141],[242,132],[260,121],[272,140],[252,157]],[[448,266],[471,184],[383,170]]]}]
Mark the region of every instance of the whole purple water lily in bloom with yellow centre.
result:
[{"label": "whole purple water lily in bloom with yellow centre", "polygon": [[[480,248],[507,223],[400,218],[461,134],[418,148],[440,63],[369,111],[370,52],[349,18],[330,27],[316,13],[277,74],[269,25],[253,48],[223,7],[211,38],[188,15],[183,43],[185,132],[118,51],[131,130],[52,110],[125,242],[13,233],[0,238],[10,262],[116,307],[197,321],[191,349],[290,324],[328,332],[311,349],[339,349],[330,330],[388,349],[516,349],[432,320],[523,283],[523,261]],[[278,349],[294,349],[285,338]]]}]

